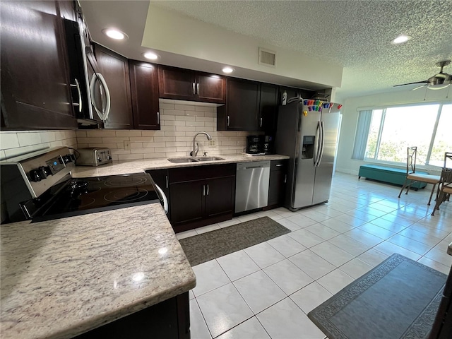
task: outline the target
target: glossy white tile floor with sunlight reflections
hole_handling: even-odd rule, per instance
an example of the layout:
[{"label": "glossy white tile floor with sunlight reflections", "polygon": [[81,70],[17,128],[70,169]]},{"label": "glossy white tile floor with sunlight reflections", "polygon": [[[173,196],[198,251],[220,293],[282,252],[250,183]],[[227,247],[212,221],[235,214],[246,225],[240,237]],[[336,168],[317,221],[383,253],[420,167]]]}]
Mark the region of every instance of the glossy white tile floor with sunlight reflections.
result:
[{"label": "glossy white tile floor with sunlight reflections", "polygon": [[326,338],[309,311],[393,253],[448,274],[452,203],[432,217],[429,190],[398,199],[399,190],[336,173],[326,204],[179,233],[182,239],[264,215],[292,231],[193,268],[191,338]]}]

